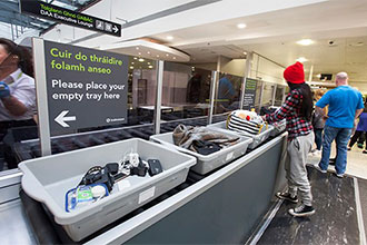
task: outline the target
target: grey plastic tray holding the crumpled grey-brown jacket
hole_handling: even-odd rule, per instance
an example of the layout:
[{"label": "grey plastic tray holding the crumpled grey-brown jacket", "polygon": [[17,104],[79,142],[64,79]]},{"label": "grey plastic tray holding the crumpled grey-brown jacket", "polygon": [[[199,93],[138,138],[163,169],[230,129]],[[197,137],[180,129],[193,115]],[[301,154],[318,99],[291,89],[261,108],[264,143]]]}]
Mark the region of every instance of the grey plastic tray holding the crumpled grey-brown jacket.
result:
[{"label": "grey plastic tray holding the crumpled grey-brown jacket", "polygon": [[167,146],[168,148],[173,148],[181,153],[186,153],[186,154],[195,156],[197,158],[197,164],[191,168],[191,170],[194,170],[200,175],[205,175],[205,174],[245,155],[248,145],[251,144],[251,141],[252,141],[252,139],[249,137],[238,136],[230,131],[221,131],[218,129],[212,129],[212,130],[219,131],[221,134],[226,134],[228,136],[239,137],[240,141],[234,146],[222,148],[217,153],[212,153],[210,155],[201,155],[201,154],[195,153],[192,150],[176,146],[173,143],[173,138],[172,138],[173,133],[152,135],[152,136],[150,136],[150,140],[162,144],[162,145]]}]

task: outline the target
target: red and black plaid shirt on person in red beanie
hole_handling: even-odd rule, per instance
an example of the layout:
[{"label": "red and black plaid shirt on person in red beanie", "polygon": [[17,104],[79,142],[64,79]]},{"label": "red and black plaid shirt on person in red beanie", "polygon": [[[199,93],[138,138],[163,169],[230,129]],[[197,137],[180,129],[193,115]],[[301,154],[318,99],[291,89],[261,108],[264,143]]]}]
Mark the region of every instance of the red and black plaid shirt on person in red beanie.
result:
[{"label": "red and black plaid shirt on person in red beanie", "polygon": [[294,89],[288,94],[286,102],[277,111],[266,115],[266,120],[270,124],[286,118],[288,140],[313,131],[311,121],[299,115],[301,101],[302,95],[297,89]]}]

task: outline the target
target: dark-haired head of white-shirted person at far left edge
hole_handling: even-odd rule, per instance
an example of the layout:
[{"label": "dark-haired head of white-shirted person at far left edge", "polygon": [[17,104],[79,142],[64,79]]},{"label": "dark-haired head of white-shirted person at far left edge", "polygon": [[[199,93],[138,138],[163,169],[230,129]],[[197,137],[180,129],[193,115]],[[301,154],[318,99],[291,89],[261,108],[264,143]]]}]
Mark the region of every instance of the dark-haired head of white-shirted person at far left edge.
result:
[{"label": "dark-haired head of white-shirted person at far left edge", "polygon": [[29,51],[8,39],[0,38],[0,77],[8,76],[18,68],[33,77],[32,60]]}]

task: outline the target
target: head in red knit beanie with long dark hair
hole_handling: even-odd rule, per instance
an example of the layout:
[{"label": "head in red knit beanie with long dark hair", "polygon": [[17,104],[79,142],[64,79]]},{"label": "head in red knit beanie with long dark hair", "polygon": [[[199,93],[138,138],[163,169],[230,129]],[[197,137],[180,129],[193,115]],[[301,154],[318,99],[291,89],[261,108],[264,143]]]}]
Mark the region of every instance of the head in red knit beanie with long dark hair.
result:
[{"label": "head in red knit beanie with long dark hair", "polygon": [[282,75],[290,90],[297,89],[301,94],[300,115],[307,120],[310,120],[314,107],[313,92],[310,87],[305,82],[304,65],[301,62],[296,62],[287,67]]}]

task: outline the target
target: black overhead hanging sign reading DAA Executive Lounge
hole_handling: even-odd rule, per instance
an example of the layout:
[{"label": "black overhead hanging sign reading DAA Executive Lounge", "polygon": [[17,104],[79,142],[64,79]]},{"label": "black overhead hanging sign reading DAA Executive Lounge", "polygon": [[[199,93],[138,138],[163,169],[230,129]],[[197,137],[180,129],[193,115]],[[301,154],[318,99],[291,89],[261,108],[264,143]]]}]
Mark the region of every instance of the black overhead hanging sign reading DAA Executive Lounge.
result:
[{"label": "black overhead hanging sign reading DAA Executive Lounge", "polygon": [[21,12],[53,20],[57,22],[85,28],[92,31],[100,31],[107,35],[121,37],[121,24],[92,16],[75,12],[69,9],[52,6],[43,1],[20,0]]}]

